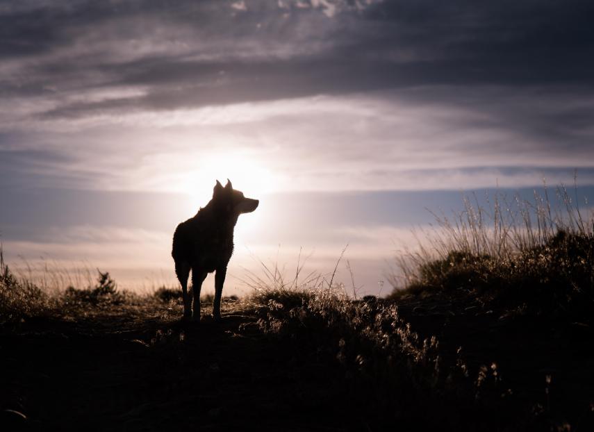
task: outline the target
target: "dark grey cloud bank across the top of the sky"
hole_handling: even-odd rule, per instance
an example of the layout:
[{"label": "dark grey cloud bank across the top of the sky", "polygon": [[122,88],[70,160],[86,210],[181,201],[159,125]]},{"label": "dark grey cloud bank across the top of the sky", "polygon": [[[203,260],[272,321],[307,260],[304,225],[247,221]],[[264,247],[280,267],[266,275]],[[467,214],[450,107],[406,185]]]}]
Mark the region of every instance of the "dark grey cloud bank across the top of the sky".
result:
[{"label": "dark grey cloud bank across the top of the sky", "polygon": [[588,1],[387,0],[364,10],[344,2],[333,17],[292,1],[246,1],[245,12],[231,3],[8,2],[0,58],[27,73],[4,76],[0,92],[147,88],[145,97],[51,112],[70,116],[411,85],[592,85]]}]

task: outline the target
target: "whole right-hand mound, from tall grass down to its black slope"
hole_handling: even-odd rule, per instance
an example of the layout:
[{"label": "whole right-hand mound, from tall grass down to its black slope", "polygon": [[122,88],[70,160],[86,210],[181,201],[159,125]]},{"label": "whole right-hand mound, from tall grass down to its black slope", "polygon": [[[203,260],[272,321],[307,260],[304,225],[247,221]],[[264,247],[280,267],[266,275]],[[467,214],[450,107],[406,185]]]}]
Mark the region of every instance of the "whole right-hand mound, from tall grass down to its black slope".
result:
[{"label": "whole right-hand mound, from tall grass down to its black slope", "polygon": [[498,393],[513,400],[499,410],[521,420],[520,430],[594,424],[587,372],[594,360],[594,219],[565,188],[556,196],[560,205],[547,190],[534,201],[496,196],[491,208],[467,198],[462,213],[436,216],[436,229],[399,258],[401,272],[390,278],[388,299],[413,328],[438,336],[444,359],[444,345],[470,351],[465,372],[478,370],[481,387],[492,372],[489,353],[498,371],[489,403]]}]

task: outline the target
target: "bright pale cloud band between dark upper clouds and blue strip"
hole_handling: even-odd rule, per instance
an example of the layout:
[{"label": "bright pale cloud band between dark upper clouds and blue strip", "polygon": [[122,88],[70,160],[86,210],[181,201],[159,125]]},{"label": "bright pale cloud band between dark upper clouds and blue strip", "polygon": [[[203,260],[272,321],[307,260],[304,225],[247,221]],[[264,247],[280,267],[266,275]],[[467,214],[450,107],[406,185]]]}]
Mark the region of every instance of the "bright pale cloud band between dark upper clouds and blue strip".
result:
[{"label": "bright pale cloud band between dark upper clouds and blue strip", "polygon": [[274,190],[526,186],[571,181],[576,167],[591,184],[592,100],[585,88],[426,86],[15,119],[0,141],[0,177],[30,187],[187,192],[196,171],[232,157],[247,161],[233,169],[265,167]]}]

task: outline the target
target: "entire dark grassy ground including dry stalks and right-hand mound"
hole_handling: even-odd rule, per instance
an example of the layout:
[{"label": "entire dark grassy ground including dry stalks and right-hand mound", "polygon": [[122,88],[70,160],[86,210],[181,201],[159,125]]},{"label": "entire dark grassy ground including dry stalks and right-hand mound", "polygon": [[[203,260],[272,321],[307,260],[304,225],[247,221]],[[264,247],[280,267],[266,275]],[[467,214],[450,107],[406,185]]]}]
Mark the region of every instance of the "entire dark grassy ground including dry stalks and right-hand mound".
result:
[{"label": "entire dark grassy ground including dry stalks and right-hand mound", "polygon": [[557,196],[557,210],[548,192],[466,199],[399,260],[386,299],[349,297],[336,269],[303,274],[301,256],[290,277],[261,263],[222,324],[182,323],[178,289],[131,294],[98,271],[48,294],[0,260],[4,416],[30,430],[591,430],[594,225]]}]

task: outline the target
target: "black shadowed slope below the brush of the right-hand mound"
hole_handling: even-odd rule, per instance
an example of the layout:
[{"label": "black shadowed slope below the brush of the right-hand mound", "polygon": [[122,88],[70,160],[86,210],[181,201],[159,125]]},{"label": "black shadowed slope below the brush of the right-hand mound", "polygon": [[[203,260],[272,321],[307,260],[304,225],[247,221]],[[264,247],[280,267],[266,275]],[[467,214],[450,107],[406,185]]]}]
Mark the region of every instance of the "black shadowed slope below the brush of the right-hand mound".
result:
[{"label": "black shadowed slope below the brush of the right-hand mound", "polygon": [[[491,385],[496,391],[484,397],[499,394],[502,400],[509,399],[501,407],[500,414],[509,416],[501,419],[502,430],[516,430],[514,418],[525,419],[529,413],[533,417],[519,430],[594,431],[591,319],[575,322],[530,310],[502,313],[481,301],[439,294],[403,301],[399,310],[420,334],[436,335],[444,363],[462,347],[471,375],[486,365],[488,381],[493,379],[490,365],[497,365],[499,381]],[[499,405],[497,401],[488,404]]]}]

